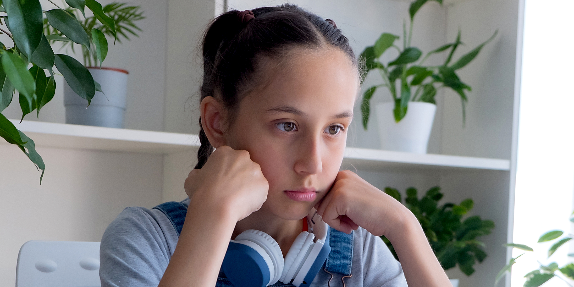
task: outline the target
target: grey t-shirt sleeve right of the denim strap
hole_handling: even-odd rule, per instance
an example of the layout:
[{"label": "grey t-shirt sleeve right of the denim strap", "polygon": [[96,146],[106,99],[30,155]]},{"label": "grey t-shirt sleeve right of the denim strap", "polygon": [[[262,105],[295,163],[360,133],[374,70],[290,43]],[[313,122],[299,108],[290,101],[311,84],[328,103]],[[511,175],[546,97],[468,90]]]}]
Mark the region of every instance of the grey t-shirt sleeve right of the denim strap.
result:
[{"label": "grey t-shirt sleeve right of the denim strap", "polygon": [[363,236],[363,286],[407,287],[401,263],[381,238],[360,229]]}]

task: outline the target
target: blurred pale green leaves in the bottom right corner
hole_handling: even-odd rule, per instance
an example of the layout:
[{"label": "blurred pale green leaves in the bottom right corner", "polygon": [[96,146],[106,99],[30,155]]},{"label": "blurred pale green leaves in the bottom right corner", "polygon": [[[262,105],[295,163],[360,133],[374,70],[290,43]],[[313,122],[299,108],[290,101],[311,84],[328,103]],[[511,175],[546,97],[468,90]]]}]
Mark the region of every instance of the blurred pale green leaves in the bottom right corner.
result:
[{"label": "blurred pale green leaves in the bottom right corner", "polygon": [[[572,214],[574,214],[574,212]],[[570,221],[574,222],[574,218],[571,217]],[[568,236],[563,235],[564,231],[562,230],[551,230],[546,232],[545,234],[542,234],[540,238],[538,238],[538,243],[554,241],[554,244],[550,246],[550,248],[548,249],[548,256],[546,257],[546,259],[550,258],[550,256],[552,256],[552,254],[554,254],[556,250],[558,250],[561,246],[563,246],[564,243],[571,241],[572,238],[574,237],[574,235],[572,234],[568,234]],[[503,246],[512,247],[529,252],[534,251],[532,247],[517,243],[506,243]],[[522,253],[515,258],[511,258],[508,264],[504,268],[502,268],[500,272],[498,272],[497,278],[494,281],[495,286],[498,284],[498,281],[500,281],[502,277],[505,276],[506,273],[510,273],[510,271],[512,270],[512,266],[517,262],[516,259],[518,259],[524,254],[525,253]],[[574,254],[568,254],[568,256],[574,257]],[[537,262],[538,264],[540,264],[540,267],[536,270],[526,273],[526,275],[524,276],[524,278],[526,278],[524,287],[538,287],[545,284],[546,282],[548,282],[548,280],[554,277],[560,278],[561,280],[566,282],[568,286],[572,286],[567,280],[565,280],[565,278],[563,278],[563,276],[571,280],[574,280],[574,263],[569,263],[567,265],[564,265],[563,267],[559,267],[558,263],[556,262],[552,262],[548,265],[544,265],[540,263],[540,261]]]}]

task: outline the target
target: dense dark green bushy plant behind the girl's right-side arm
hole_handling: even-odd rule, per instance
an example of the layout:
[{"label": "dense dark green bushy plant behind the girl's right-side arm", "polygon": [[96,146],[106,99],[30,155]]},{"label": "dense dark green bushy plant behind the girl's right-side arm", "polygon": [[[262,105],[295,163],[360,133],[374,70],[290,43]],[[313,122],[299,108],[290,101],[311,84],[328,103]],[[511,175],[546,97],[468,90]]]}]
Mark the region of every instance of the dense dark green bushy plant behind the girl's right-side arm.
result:
[{"label": "dense dark green bushy plant behind the girl's right-side arm", "polygon": [[[401,193],[397,189],[386,187],[385,193],[402,203]],[[418,199],[417,189],[407,188],[404,205],[413,212],[421,223],[422,230],[426,234],[430,246],[440,265],[444,270],[459,266],[467,276],[474,273],[476,261],[482,262],[487,254],[484,251],[484,243],[478,241],[478,236],[490,234],[494,228],[492,220],[482,220],[480,216],[470,216],[463,220],[463,216],[474,207],[472,199],[465,199],[460,204],[444,203],[439,205],[443,198],[440,187],[430,188],[424,196]],[[381,236],[383,241],[394,251],[389,239]],[[451,280],[456,287],[458,280]]]}]

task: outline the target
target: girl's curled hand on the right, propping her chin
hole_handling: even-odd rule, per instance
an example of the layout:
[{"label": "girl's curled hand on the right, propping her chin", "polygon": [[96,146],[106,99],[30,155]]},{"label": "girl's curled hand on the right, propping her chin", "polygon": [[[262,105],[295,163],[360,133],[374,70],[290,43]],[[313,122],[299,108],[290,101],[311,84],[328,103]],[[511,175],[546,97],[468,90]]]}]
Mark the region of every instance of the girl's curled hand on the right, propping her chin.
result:
[{"label": "girl's curled hand on the right, propping her chin", "polygon": [[331,190],[315,208],[325,223],[346,233],[360,226],[373,235],[387,235],[410,219],[404,205],[350,170],[337,174]]}]

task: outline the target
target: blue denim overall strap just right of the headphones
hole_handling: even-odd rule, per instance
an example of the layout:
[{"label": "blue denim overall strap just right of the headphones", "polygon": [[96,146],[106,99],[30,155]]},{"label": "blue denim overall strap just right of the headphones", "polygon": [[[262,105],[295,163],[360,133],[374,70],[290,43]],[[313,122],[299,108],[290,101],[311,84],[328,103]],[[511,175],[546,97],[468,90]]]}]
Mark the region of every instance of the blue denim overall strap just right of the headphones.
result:
[{"label": "blue denim overall strap just right of the headphones", "polygon": [[350,276],[353,262],[353,232],[346,234],[329,226],[329,245],[331,253],[327,257],[325,269],[328,272]]}]

